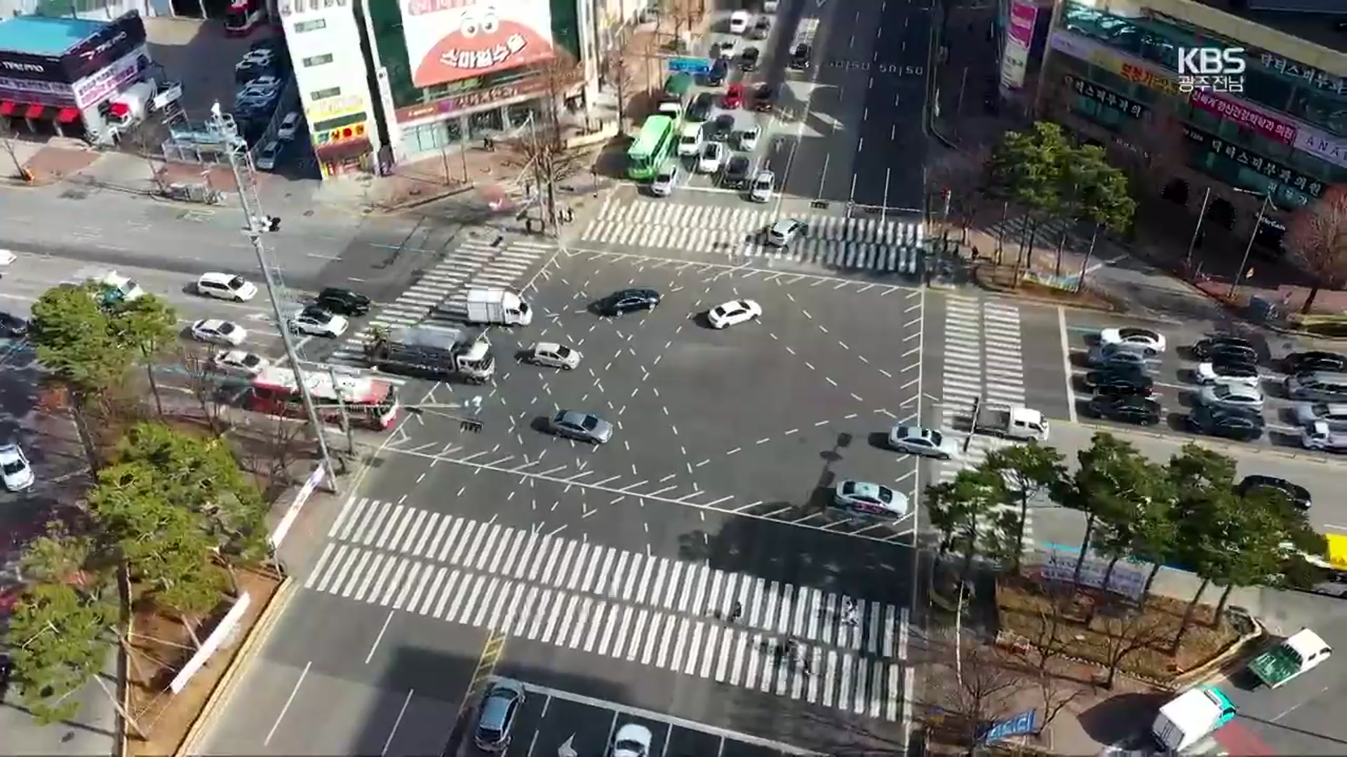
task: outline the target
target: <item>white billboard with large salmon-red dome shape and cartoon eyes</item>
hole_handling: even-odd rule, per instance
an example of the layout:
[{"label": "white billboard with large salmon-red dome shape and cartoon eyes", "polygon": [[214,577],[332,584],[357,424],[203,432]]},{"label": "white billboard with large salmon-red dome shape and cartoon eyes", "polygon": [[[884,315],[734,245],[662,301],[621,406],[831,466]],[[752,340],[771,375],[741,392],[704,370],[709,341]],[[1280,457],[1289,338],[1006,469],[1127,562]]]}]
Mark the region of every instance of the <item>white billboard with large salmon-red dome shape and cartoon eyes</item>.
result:
[{"label": "white billboard with large salmon-red dome shape and cartoon eyes", "polygon": [[550,0],[403,0],[412,84],[480,77],[552,57]]}]

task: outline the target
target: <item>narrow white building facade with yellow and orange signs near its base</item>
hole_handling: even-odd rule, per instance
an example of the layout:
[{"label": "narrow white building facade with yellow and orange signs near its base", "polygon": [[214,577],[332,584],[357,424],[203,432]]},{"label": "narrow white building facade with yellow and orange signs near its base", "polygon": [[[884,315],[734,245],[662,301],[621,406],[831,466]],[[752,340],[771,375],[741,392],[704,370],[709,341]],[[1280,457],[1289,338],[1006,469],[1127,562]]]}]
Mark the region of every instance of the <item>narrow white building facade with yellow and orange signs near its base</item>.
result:
[{"label": "narrow white building facade with yellow and orange signs near its base", "polygon": [[282,0],[279,15],[323,178],[374,172],[377,101],[354,0]]}]

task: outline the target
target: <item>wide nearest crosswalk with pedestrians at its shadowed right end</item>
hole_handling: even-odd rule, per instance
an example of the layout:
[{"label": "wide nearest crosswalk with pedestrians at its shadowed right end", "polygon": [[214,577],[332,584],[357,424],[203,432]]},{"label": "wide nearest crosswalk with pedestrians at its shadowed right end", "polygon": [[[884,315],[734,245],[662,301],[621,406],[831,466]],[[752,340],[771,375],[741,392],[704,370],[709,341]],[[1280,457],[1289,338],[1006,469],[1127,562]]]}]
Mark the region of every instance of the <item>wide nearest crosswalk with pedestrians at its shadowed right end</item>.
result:
[{"label": "wide nearest crosswalk with pedestrians at its shadowed right end", "polygon": [[911,686],[893,603],[370,498],[329,539],[314,591],[885,721]]}]

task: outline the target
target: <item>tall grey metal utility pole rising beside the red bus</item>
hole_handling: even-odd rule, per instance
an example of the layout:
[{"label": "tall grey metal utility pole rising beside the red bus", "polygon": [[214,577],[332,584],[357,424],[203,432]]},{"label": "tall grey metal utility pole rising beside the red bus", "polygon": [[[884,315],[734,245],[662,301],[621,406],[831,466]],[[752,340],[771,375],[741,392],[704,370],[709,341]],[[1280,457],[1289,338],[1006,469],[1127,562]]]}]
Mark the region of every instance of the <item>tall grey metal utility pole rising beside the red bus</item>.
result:
[{"label": "tall grey metal utility pole rising beside the red bus", "polygon": [[[286,357],[290,360],[290,369],[295,373],[295,383],[299,384],[299,397],[304,404],[304,414],[308,416],[308,426],[318,439],[318,451],[322,455],[323,467],[327,475],[323,477],[333,494],[338,494],[337,469],[333,466],[331,453],[327,450],[327,434],[318,409],[314,407],[314,397],[308,393],[308,383],[304,380],[304,368],[299,362],[294,341],[290,338],[290,329],[286,327],[286,314],[280,307],[280,296],[276,294],[276,282],[272,268],[267,265],[267,249],[263,246],[261,236],[267,232],[280,230],[280,218],[263,216],[261,198],[257,195],[257,183],[253,180],[252,155],[248,154],[248,144],[238,135],[238,127],[233,116],[226,116],[220,109],[220,102],[210,106],[211,125],[217,129],[225,155],[229,158],[229,168],[234,174],[234,183],[238,186],[238,205],[244,210],[244,236],[252,242],[257,255],[257,268],[261,271],[263,282],[267,286],[267,296],[271,299],[272,314],[276,317],[276,330],[280,331],[280,342],[286,346]],[[345,415],[345,414],[343,414]]]}]

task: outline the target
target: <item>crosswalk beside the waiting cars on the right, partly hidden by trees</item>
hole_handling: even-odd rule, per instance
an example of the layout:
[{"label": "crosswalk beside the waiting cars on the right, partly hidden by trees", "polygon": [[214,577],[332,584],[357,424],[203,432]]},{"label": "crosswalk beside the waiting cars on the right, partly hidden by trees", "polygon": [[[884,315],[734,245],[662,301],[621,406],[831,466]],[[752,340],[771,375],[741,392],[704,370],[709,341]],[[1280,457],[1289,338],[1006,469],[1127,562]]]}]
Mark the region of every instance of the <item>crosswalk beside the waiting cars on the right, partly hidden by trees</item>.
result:
[{"label": "crosswalk beside the waiting cars on the right, partly hidden by trees", "polygon": [[[985,407],[1024,404],[1018,307],[946,296],[942,393],[942,427],[947,430],[968,428],[977,397],[982,397]],[[954,480],[959,470],[981,465],[989,451],[1012,443],[995,436],[974,435],[968,439],[966,453],[940,466],[940,481]],[[1009,505],[998,506],[1016,509]],[[1032,516],[1030,509],[1024,524],[1025,544],[1030,543],[1033,533]]]}]

